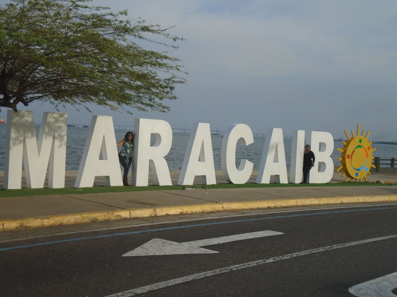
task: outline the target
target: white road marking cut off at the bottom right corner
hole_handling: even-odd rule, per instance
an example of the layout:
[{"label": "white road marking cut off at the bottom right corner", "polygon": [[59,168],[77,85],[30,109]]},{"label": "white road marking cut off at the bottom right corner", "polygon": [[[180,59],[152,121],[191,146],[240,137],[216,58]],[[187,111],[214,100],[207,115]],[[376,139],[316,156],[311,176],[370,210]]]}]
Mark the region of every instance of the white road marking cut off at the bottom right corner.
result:
[{"label": "white road marking cut off at the bottom right corner", "polygon": [[349,292],[358,297],[396,297],[391,293],[397,288],[397,272],[353,286]]}]

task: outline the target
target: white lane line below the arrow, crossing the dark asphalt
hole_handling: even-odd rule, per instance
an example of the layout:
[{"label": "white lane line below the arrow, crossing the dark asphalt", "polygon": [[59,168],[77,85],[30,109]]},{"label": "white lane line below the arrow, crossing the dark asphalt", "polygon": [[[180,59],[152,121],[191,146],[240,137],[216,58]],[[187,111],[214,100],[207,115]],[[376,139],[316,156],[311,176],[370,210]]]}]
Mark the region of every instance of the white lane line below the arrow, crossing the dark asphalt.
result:
[{"label": "white lane line below the arrow, crossing the dark asphalt", "polygon": [[220,269],[210,270],[210,271],[206,271],[206,272],[191,274],[191,275],[184,276],[181,278],[175,278],[173,280],[167,280],[165,282],[159,282],[157,284],[152,284],[149,286],[124,291],[121,293],[116,293],[114,295],[108,295],[107,297],[134,296],[134,295],[138,295],[138,294],[145,293],[148,291],[154,291],[154,290],[161,289],[164,287],[170,287],[170,286],[173,286],[176,284],[182,284],[185,282],[189,282],[191,280],[197,280],[197,279],[205,278],[208,276],[214,276],[216,274],[221,274],[221,273],[225,273],[225,272],[229,272],[229,271],[233,271],[233,270],[248,268],[248,267],[252,267],[252,266],[256,266],[256,265],[262,265],[262,264],[266,264],[266,263],[276,262],[276,261],[290,259],[290,258],[299,257],[299,256],[304,256],[304,255],[310,255],[310,254],[314,254],[314,253],[320,253],[322,251],[330,251],[332,249],[339,249],[341,247],[355,246],[358,244],[366,244],[368,242],[376,242],[379,240],[387,240],[387,239],[391,239],[391,238],[397,238],[397,234],[390,235],[390,236],[377,237],[377,238],[370,238],[370,239],[366,239],[366,240],[359,240],[359,241],[355,241],[355,242],[347,242],[344,244],[336,244],[334,246],[319,247],[317,249],[309,249],[307,251],[300,251],[300,252],[292,253],[292,254],[288,254],[288,255],[282,255],[282,256],[273,257],[273,258],[269,258],[269,259],[262,259],[262,260],[248,262],[248,263],[224,267],[224,268],[220,268]]}]

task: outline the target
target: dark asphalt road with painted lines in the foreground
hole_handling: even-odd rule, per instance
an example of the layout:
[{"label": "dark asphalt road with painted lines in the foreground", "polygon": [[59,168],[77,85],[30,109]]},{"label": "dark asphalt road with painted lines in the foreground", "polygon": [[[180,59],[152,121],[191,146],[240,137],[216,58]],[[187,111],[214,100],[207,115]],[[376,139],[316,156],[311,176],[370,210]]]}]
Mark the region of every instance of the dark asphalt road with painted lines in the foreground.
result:
[{"label": "dark asphalt road with painted lines in the foreground", "polygon": [[[224,214],[1,232],[0,295],[353,296],[397,272],[397,204]],[[226,237],[266,230],[277,233]],[[167,242],[138,250],[182,254],[122,256],[154,238]]]}]

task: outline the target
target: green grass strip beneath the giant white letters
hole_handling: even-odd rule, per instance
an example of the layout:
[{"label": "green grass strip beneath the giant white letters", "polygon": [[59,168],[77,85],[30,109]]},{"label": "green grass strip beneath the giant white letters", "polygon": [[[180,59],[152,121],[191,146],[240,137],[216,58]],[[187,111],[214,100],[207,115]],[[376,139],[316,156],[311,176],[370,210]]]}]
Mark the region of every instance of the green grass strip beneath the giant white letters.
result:
[{"label": "green grass strip beneath the giant white letters", "polygon": [[[281,184],[281,183],[269,183],[269,184],[257,184],[257,183],[245,183],[242,185],[221,183],[218,185],[205,185],[206,189],[229,189],[229,188],[286,188],[286,187],[354,187],[354,186],[384,186],[385,184],[376,183],[325,183],[325,184]],[[388,184],[396,185],[396,184]],[[202,185],[186,186],[187,188],[196,187],[197,189],[202,188]],[[0,190],[0,198],[2,197],[26,197],[26,196],[46,196],[46,195],[68,195],[68,194],[96,194],[96,193],[117,193],[117,192],[139,192],[139,191],[164,191],[164,190],[182,190],[183,186],[147,186],[147,187],[107,187],[107,186],[96,186],[91,188],[39,188],[39,189],[18,189],[18,190]]]}]

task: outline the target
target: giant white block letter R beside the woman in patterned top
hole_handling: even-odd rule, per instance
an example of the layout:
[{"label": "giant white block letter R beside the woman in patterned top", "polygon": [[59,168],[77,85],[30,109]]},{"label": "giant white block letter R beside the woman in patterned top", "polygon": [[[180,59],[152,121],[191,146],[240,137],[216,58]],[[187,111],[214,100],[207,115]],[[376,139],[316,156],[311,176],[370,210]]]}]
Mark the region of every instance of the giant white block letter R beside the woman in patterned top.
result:
[{"label": "giant white block letter R beside the woman in patterned top", "polygon": [[[136,118],[134,123],[134,153],[132,182],[134,186],[147,186],[149,165],[152,170],[154,184],[171,186],[171,176],[164,157],[170,152],[172,145],[172,129],[163,120]],[[156,141],[150,146],[150,136],[154,134]]]}]

